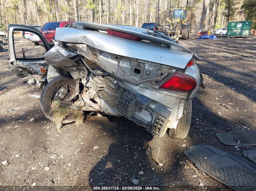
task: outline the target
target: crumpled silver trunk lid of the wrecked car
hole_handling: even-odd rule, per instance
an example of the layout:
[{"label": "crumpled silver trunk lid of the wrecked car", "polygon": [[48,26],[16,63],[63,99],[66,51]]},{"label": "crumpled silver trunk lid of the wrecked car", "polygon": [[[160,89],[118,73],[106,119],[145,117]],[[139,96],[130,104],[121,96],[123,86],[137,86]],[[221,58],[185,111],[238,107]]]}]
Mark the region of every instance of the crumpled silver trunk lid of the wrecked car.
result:
[{"label": "crumpled silver trunk lid of the wrecked car", "polygon": [[[77,23],[83,23],[83,22],[77,22]],[[101,27],[98,30],[103,30],[103,29],[106,30],[106,28],[113,29],[111,25],[104,25],[104,27],[105,29]],[[115,29],[116,28],[117,27],[115,27]],[[138,27],[135,27],[135,28],[138,28]],[[130,31],[126,29],[120,29],[120,30],[121,31],[125,30],[126,32]],[[131,30],[130,33],[134,33],[134,34],[138,33],[139,35],[144,35],[146,37],[149,37],[146,40],[152,42],[151,37],[153,36],[135,32],[134,30]],[[143,29],[143,30],[146,30],[146,29]],[[154,41],[158,41],[158,43],[160,43],[160,41],[161,42],[164,41],[165,44],[169,43],[170,45],[172,45],[173,43],[174,45],[170,47],[175,49],[170,49],[167,46],[161,46],[161,45],[149,43],[146,41],[135,41],[135,40],[129,40],[121,37],[115,37],[104,32],[70,28],[70,27],[56,28],[55,40],[70,42],[70,43],[85,43],[86,45],[92,46],[96,49],[99,49],[108,53],[112,53],[120,56],[127,56],[135,59],[146,60],[146,61],[174,66],[178,68],[185,68],[193,56],[192,53],[186,51],[187,48],[175,42],[164,40],[158,37],[154,37]]]}]

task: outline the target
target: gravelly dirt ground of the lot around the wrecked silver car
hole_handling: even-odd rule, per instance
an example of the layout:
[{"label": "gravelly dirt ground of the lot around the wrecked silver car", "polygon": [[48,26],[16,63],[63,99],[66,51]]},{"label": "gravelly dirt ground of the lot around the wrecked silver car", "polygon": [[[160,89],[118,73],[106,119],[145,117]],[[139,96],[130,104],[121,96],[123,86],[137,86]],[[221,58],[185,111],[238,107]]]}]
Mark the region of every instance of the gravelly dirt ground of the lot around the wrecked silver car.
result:
[{"label": "gravelly dirt ground of the lot around the wrecked silver car", "polygon": [[[160,190],[232,190],[200,170],[196,174],[183,154],[186,147],[198,144],[241,156],[244,150],[254,149],[239,147],[238,151],[223,145],[216,133],[243,130],[242,126],[256,130],[256,38],[217,37],[198,40],[201,60],[196,64],[205,89],[200,88],[193,99],[191,129],[185,139],[153,138],[143,127],[112,116],[86,116],[84,125],[64,125],[59,133],[43,115],[39,99],[28,96],[40,95],[41,90],[9,72],[8,46],[4,46],[0,87],[8,89],[0,91],[0,160],[10,164],[0,164],[0,190],[94,190],[94,186],[135,186],[132,179],[143,188]],[[24,45],[28,40],[22,37],[15,40],[18,49],[25,46],[34,55],[42,48]],[[180,43],[195,51],[197,39]],[[230,103],[231,108],[221,103]],[[162,167],[155,162],[158,145]],[[151,148],[152,153],[146,154]]]}]

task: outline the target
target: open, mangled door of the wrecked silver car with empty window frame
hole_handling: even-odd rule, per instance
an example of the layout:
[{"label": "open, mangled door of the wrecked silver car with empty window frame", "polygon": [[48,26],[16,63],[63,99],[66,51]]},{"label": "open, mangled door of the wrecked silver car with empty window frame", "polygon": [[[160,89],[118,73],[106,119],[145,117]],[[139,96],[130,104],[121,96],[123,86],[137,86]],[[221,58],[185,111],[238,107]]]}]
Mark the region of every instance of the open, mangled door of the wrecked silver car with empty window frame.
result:
[{"label": "open, mangled door of the wrecked silver car with empty window frame", "polygon": [[[36,46],[20,36],[21,31],[37,35],[44,46]],[[26,79],[28,84],[43,88],[46,84],[48,65],[45,64],[45,53],[51,49],[42,33],[32,27],[19,24],[8,26],[9,69],[15,75]]]}]

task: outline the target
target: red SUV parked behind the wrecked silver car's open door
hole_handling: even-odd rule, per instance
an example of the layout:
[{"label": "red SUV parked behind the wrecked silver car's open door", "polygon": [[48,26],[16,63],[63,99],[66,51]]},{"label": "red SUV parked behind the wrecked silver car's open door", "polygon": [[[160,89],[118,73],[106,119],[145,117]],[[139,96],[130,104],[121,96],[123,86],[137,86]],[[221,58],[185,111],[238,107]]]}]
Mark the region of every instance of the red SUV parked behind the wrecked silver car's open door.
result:
[{"label": "red SUV parked behind the wrecked silver car's open door", "polygon": [[[41,33],[47,40],[50,46],[54,46],[54,42],[52,41],[52,37],[55,36],[56,28],[65,27],[67,24],[74,23],[75,21],[59,21],[59,22],[49,22],[45,23],[45,25],[41,28]],[[39,45],[43,46],[42,40],[39,40]]]}]

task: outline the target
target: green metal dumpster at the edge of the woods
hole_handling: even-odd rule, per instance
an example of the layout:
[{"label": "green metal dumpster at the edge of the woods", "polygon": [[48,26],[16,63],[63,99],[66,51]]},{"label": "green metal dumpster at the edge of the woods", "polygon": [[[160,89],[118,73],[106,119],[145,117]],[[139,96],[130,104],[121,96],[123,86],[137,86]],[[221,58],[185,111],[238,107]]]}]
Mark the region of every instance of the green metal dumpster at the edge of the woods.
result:
[{"label": "green metal dumpster at the edge of the woods", "polygon": [[251,21],[228,22],[227,37],[249,37]]}]

